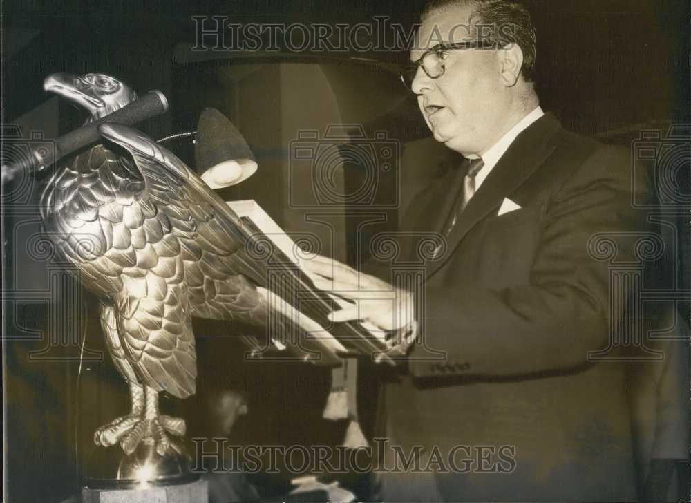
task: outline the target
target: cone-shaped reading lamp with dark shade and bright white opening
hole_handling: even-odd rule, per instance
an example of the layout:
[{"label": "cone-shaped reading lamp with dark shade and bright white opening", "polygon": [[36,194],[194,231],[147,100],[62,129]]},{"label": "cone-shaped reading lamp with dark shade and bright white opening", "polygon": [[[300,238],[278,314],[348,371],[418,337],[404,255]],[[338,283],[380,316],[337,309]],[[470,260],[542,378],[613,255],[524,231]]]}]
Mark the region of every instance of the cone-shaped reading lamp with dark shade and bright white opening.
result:
[{"label": "cone-shaped reading lamp with dark shade and bright white opening", "polygon": [[242,133],[216,108],[205,108],[199,117],[194,157],[197,173],[211,189],[238,184],[257,170]]}]

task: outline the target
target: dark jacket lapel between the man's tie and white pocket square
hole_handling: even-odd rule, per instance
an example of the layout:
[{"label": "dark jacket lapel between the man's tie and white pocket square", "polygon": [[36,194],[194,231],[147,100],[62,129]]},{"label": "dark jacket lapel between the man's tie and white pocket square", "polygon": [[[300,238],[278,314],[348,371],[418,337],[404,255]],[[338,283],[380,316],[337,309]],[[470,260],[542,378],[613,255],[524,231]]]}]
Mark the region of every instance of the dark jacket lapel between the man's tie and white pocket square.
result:
[{"label": "dark jacket lapel between the man's tie and white pocket square", "polygon": [[[496,211],[504,198],[518,189],[540,167],[554,149],[550,140],[559,127],[556,117],[548,113],[516,137],[458,217],[448,237],[444,256],[440,260],[428,262],[426,277],[435,274],[453,254],[468,231]],[[443,214],[448,214],[448,209]],[[435,228],[435,231],[439,232],[439,229]]]}]

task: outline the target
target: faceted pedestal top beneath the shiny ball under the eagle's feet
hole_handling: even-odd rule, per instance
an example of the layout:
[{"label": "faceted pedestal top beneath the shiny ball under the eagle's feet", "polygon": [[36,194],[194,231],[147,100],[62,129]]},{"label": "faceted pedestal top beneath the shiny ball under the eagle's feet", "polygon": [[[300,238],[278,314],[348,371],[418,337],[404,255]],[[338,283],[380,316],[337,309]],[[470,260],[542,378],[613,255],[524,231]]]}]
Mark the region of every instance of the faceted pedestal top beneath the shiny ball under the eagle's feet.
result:
[{"label": "faceted pedestal top beneath the shiny ball under the eagle's feet", "polygon": [[82,503],[206,503],[208,500],[205,480],[139,489],[82,488]]}]

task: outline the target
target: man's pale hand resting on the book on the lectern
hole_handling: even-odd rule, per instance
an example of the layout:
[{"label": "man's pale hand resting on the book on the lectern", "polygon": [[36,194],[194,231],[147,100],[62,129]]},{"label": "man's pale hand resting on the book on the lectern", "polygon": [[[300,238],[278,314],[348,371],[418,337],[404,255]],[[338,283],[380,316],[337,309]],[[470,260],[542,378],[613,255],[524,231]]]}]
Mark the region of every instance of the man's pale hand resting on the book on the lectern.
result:
[{"label": "man's pale hand resting on the book on the lectern", "polygon": [[332,292],[354,303],[352,307],[332,312],[329,315],[331,321],[369,321],[387,332],[413,330],[415,299],[407,290],[395,288],[375,276],[357,272],[323,256],[304,260],[303,269],[310,274],[319,290]]}]

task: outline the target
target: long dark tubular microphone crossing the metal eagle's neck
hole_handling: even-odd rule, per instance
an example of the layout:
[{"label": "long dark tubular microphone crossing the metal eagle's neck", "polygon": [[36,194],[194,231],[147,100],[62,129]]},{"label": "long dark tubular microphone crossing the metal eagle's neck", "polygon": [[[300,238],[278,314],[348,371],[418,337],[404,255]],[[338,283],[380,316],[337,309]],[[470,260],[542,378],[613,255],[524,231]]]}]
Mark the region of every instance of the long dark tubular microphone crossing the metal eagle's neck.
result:
[{"label": "long dark tubular microphone crossing the metal eagle's neck", "polygon": [[3,164],[2,182],[3,184],[12,182],[22,171],[44,171],[50,164],[59,161],[64,156],[99,141],[101,135],[99,135],[97,127],[102,122],[117,122],[131,126],[156,115],[161,115],[167,110],[168,100],[165,95],[158,90],[149,91],[139,99],[123,106],[120,110],[53,140],[55,149],[44,149],[29,144],[28,155],[15,162]]}]

